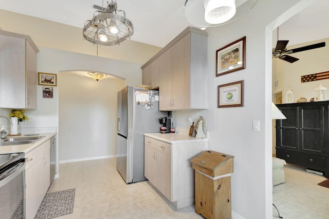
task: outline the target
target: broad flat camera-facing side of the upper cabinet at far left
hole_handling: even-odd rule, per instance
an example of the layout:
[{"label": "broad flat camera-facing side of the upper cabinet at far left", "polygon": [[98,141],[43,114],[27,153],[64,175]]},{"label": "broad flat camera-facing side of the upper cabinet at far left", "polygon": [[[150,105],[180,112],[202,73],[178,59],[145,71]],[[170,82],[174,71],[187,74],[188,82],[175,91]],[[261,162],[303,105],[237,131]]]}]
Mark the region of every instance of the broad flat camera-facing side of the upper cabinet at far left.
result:
[{"label": "broad flat camera-facing side of the upper cabinet at far left", "polygon": [[0,35],[0,108],[25,108],[25,39]]}]

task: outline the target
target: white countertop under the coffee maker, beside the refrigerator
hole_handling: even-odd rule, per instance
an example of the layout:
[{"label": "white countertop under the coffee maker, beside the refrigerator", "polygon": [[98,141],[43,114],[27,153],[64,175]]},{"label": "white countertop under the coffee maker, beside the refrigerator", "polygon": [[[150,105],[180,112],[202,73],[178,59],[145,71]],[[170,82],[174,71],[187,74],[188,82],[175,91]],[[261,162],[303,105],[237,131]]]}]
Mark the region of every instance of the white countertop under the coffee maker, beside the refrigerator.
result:
[{"label": "white countertop under the coffee maker, beside the refrigerator", "polygon": [[186,134],[176,133],[145,133],[144,136],[154,138],[156,140],[167,142],[169,144],[190,143],[190,142],[208,142],[208,138],[195,138]]}]

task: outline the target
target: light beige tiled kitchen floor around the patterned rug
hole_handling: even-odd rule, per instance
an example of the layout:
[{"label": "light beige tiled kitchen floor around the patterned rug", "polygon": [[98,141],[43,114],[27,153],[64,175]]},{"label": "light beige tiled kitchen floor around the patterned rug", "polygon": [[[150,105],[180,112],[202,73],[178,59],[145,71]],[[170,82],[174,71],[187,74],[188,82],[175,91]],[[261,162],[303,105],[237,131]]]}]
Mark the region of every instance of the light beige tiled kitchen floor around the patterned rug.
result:
[{"label": "light beige tiled kitchen floor around the patterned rug", "polygon": [[147,182],[126,185],[116,159],[60,164],[48,192],[76,188],[74,212],[56,219],[203,218],[192,206],[175,210]]}]

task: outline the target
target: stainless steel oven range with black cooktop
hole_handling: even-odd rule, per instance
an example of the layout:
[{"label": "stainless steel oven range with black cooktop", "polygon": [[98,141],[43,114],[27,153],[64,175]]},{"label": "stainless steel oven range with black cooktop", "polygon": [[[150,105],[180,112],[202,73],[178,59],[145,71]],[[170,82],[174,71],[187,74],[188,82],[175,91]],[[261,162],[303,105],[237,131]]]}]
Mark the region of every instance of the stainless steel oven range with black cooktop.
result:
[{"label": "stainless steel oven range with black cooktop", "polygon": [[0,155],[1,218],[25,218],[25,154]]}]

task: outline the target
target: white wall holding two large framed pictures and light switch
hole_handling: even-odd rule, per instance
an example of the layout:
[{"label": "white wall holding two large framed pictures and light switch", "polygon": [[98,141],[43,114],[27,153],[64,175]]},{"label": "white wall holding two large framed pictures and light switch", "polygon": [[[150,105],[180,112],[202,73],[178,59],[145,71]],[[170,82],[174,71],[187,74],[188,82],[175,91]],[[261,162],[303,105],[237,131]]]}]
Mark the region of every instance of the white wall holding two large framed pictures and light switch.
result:
[{"label": "white wall holding two large framed pictures and light switch", "polygon": [[[189,127],[189,116],[196,121],[203,115],[208,121],[209,149],[235,156],[231,186],[235,219],[272,218],[272,30],[311,2],[260,0],[243,18],[207,29],[209,109],[173,112],[176,126],[182,128]],[[243,36],[246,69],[215,77],[215,51]],[[245,83],[244,107],[217,108],[217,86],[240,80]],[[253,120],[260,121],[260,132],[252,131]]]}]

